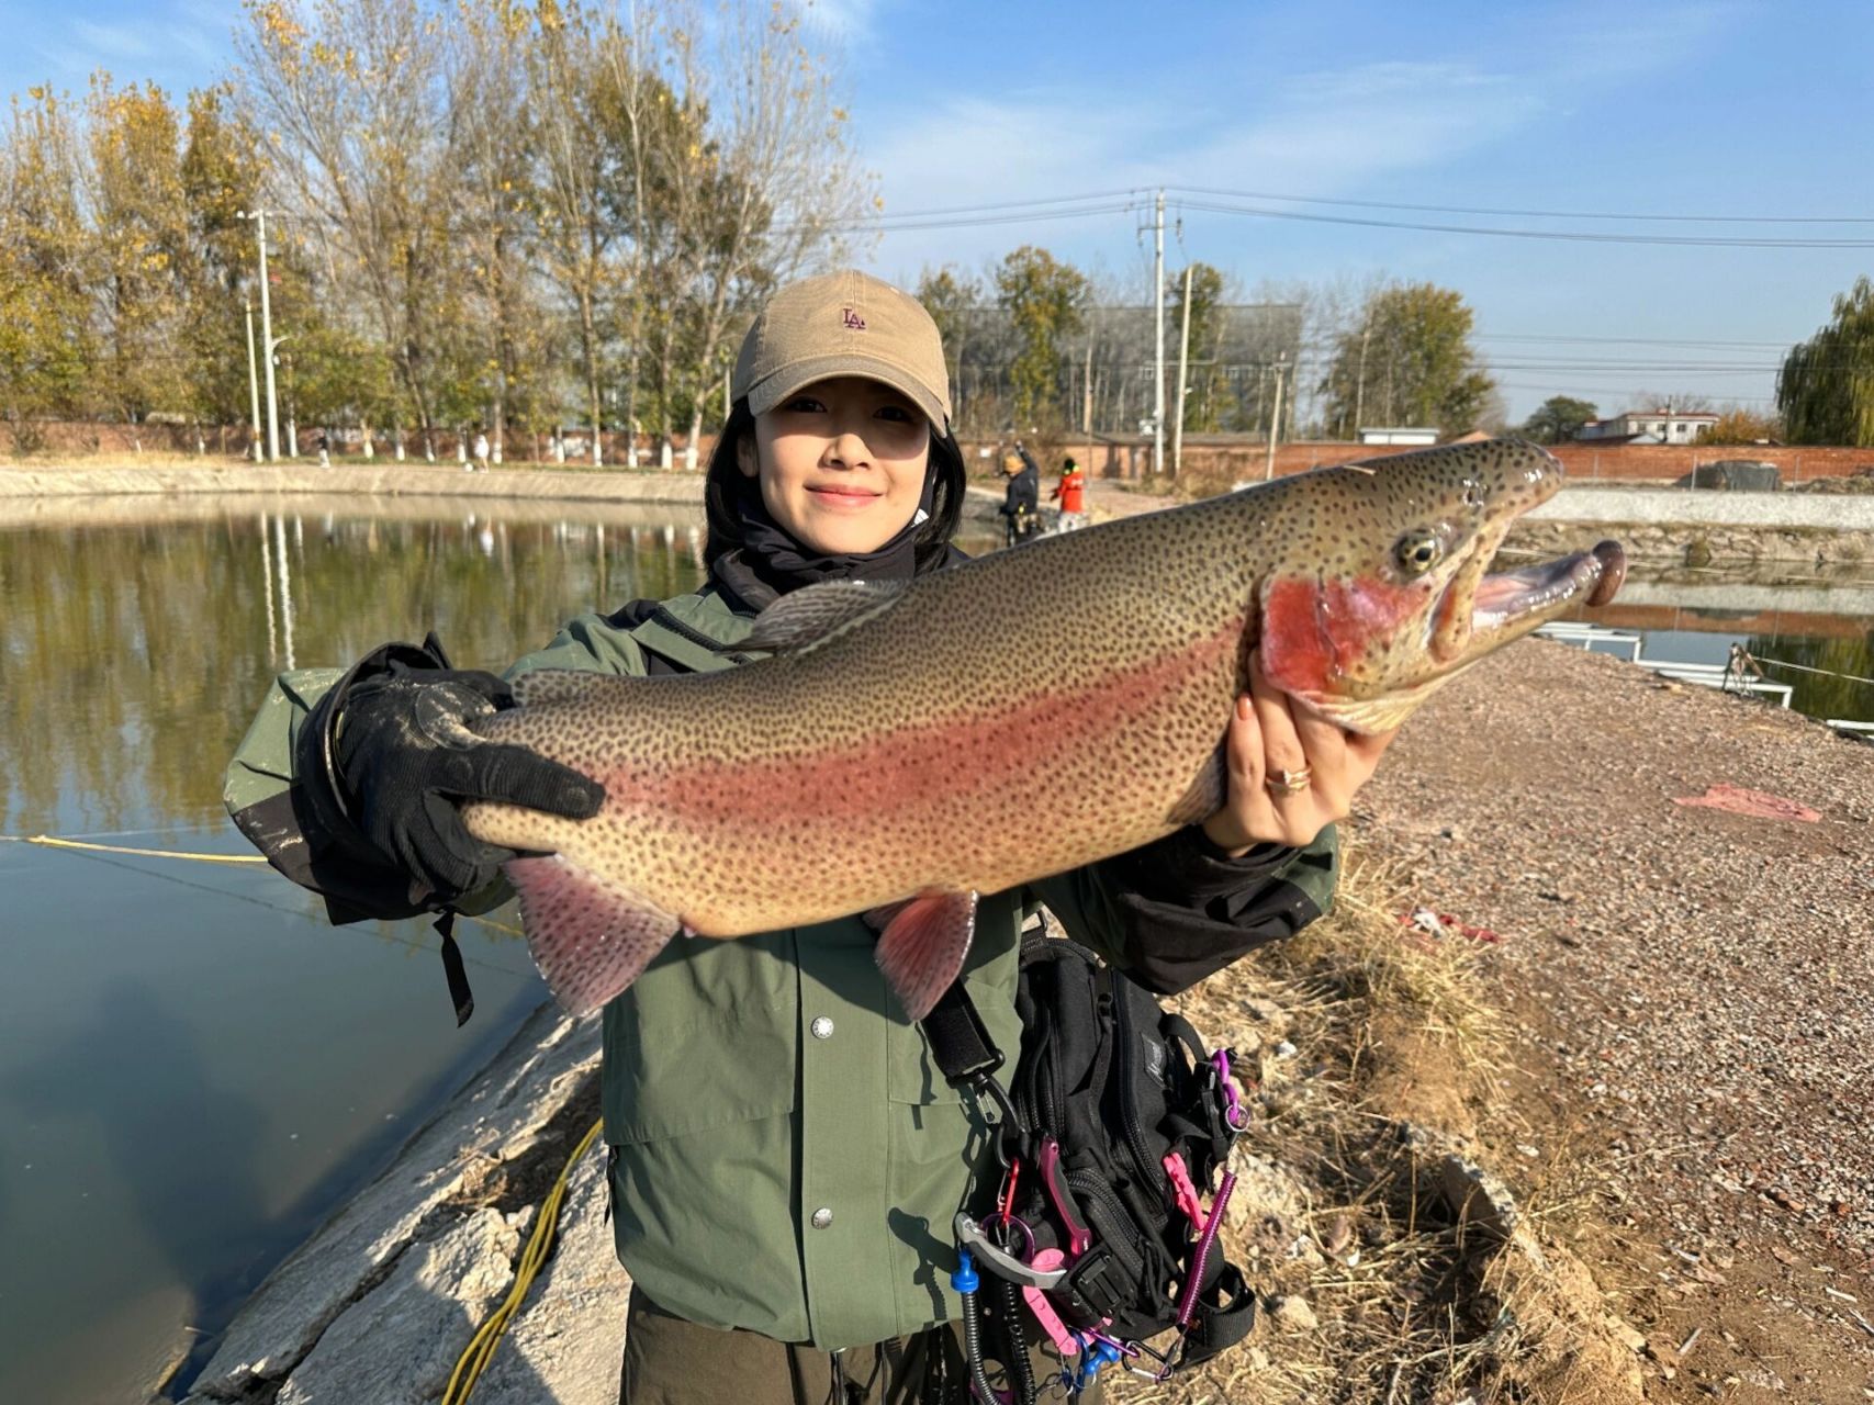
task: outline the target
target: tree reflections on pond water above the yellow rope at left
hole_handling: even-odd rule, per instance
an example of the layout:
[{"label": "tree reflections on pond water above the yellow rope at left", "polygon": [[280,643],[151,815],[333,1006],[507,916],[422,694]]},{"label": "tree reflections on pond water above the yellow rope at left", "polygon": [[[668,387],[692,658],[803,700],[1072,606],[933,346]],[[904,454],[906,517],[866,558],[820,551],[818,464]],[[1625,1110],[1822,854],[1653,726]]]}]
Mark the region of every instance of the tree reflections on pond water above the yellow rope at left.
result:
[{"label": "tree reflections on pond water above the yellow rope at left", "polygon": [[0,834],[216,813],[214,759],[279,669],[429,629],[459,667],[500,669],[583,609],[701,575],[699,519],[425,511],[0,530]]}]

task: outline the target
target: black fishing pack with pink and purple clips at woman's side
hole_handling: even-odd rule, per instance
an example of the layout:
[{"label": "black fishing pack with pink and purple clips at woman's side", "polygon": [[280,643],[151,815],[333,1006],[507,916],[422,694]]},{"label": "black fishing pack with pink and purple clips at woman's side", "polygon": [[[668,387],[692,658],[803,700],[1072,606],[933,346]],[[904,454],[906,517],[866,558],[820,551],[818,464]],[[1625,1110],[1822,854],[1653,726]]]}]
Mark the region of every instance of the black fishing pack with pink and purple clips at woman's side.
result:
[{"label": "black fishing pack with pink and purple clips at woman's side", "polygon": [[[1031,1405],[1029,1334],[1055,1343],[1061,1384],[1079,1394],[1106,1366],[1164,1381],[1241,1341],[1256,1293],[1224,1259],[1218,1225],[1235,1186],[1229,1148],[1246,1118],[1229,1051],[1087,948],[1031,935],[1016,1010],[1021,1051],[1006,1092],[961,982],[924,1032],[943,1075],[995,1102],[1003,1182],[995,1203],[956,1218],[963,1334],[978,1398],[997,1399],[982,1338]],[[1203,1205],[1222,1173],[1222,1184]],[[982,1278],[978,1279],[978,1272]],[[1169,1351],[1147,1345],[1177,1330]]]}]

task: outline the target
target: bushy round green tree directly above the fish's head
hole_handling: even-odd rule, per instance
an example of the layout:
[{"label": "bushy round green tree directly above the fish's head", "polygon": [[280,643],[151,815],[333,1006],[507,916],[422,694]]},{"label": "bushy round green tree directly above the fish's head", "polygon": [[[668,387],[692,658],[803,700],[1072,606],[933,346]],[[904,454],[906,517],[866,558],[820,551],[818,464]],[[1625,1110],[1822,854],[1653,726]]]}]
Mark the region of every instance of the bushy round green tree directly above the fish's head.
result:
[{"label": "bushy round green tree directly above the fish's head", "polygon": [[1452,288],[1394,283],[1374,292],[1359,322],[1340,333],[1321,382],[1327,422],[1344,436],[1359,422],[1437,427],[1447,436],[1469,431],[1495,388],[1477,369],[1471,322]]}]

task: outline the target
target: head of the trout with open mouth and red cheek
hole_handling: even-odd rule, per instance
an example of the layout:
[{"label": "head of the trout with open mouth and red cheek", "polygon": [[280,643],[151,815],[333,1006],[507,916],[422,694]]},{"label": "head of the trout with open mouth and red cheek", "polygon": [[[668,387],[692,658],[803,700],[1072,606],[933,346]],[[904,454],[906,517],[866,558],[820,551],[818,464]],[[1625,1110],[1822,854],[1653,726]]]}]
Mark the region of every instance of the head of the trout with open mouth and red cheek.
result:
[{"label": "head of the trout with open mouth and red cheek", "polygon": [[1286,534],[1257,586],[1267,678],[1353,732],[1398,727],[1495,648],[1625,575],[1602,541],[1490,573],[1516,519],[1561,487],[1535,444],[1486,440],[1299,474],[1269,528]]}]

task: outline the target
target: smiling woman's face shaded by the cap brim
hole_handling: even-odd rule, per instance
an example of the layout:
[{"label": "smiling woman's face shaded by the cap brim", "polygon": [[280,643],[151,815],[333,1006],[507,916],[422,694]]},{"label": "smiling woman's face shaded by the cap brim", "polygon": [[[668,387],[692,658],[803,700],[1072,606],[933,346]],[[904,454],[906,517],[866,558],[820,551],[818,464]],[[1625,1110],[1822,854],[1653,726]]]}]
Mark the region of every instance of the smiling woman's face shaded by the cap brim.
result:
[{"label": "smiling woman's face shaded by the cap brim", "polygon": [[924,412],[862,377],[815,380],[755,416],[736,466],[761,480],[768,515],[823,555],[877,551],[918,510],[931,455]]}]

